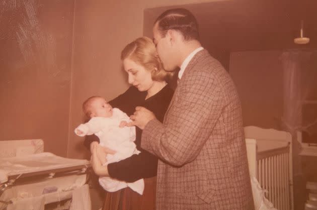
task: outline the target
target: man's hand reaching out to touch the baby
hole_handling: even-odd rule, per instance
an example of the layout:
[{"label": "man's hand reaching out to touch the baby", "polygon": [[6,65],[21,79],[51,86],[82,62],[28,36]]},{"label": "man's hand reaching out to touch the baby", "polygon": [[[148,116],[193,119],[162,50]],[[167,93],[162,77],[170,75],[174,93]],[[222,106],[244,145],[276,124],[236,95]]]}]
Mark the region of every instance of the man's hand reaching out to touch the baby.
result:
[{"label": "man's hand reaching out to touch the baby", "polygon": [[144,107],[136,107],[130,119],[132,122],[128,123],[127,126],[137,126],[143,130],[148,122],[155,119],[155,115]]}]

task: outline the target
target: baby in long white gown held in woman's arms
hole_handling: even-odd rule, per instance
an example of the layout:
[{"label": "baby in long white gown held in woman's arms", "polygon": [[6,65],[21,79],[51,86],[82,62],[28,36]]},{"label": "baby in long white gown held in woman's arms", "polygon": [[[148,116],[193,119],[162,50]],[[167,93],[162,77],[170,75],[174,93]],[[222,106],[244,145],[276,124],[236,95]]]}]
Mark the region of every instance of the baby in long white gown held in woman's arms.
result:
[{"label": "baby in long white gown held in woman's arms", "polygon": [[[133,154],[139,154],[136,149],[135,127],[126,127],[130,118],[121,110],[112,108],[111,105],[101,96],[92,96],[83,103],[83,111],[90,121],[81,124],[75,129],[78,136],[95,134],[99,137],[100,145],[116,151],[115,154],[98,152],[98,158],[105,165],[118,162]],[[99,146],[99,145],[97,145]],[[111,177],[100,177],[100,185],[109,192],[130,187],[132,190],[143,193],[144,181],[139,179],[133,183],[127,183],[112,179]]]}]

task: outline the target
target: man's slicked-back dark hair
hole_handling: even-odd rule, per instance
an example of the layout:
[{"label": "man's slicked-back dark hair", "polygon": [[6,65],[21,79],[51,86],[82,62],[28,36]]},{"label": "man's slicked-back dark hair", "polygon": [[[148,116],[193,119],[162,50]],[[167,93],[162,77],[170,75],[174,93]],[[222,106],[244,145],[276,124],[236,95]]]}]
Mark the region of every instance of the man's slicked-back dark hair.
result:
[{"label": "man's slicked-back dark hair", "polygon": [[197,20],[194,15],[186,9],[177,8],[167,10],[156,19],[154,25],[156,23],[162,37],[166,36],[168,30],[173,29],[179,31],[186,41],[199,41]]}]

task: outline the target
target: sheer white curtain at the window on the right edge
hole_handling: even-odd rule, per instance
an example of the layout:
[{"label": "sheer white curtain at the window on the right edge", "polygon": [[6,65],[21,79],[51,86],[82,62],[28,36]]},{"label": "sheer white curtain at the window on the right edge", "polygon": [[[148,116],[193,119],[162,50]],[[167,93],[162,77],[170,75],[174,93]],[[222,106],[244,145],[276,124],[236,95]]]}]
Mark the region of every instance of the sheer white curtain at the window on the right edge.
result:
[{"label": "sheer white curtain at the window on the right edge", "polygon": [[[282,127],[293,137],[293,155],[297,156],[301,146],[296,141],[296,132],[309,135],[316,132],[317,119],[302,123],[302,105],[307,100],[317,100],[317,51],[287,51],[281,56],[283,66],[283,117]],[[317,108],[317,104],[316,104]],[[298,156],[297,156],[298,157]],[[300,160],[294,158],[294,171],[300,172]]]}]

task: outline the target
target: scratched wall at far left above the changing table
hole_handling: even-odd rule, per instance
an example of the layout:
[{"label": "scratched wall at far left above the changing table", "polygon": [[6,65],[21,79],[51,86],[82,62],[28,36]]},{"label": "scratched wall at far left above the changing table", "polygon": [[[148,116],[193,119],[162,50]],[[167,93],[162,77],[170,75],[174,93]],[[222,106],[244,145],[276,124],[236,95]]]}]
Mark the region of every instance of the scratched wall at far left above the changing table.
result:
[{"label": "scratched wall at far left above the changing table", "polygon": [[24,2],[1,3],[0,140],[66,156],[74,0]]}]

